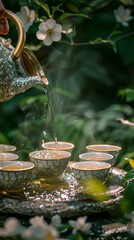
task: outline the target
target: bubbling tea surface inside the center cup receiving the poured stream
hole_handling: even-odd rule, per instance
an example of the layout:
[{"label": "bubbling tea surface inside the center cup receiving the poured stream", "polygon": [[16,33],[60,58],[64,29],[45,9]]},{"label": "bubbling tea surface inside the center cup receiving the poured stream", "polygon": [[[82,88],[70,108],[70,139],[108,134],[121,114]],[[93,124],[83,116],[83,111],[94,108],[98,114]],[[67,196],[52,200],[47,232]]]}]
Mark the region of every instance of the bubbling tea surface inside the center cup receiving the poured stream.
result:
[{"label": "bubbling tea surface inside the center cup receiving the poured stream", "polygon": [[71,153],[66,151],[40,150],[30,153],[29,156],[36,160],[60,160],[69,158]]}]

